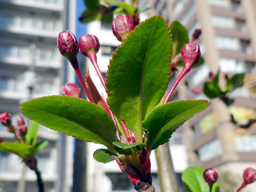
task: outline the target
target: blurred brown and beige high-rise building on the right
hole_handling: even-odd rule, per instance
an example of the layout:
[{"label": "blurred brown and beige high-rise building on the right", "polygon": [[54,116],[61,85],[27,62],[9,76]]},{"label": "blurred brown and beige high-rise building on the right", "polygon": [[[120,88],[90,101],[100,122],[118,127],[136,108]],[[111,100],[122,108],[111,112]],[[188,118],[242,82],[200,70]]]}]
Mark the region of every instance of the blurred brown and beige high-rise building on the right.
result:
[{"label": "blurred brown and beige high-rise building on the right", "polygon": [[[180,100],[206,99],[212,103],[183,125],[189,164],[214,167],[220,173],[228,171],[230,177],[239,175],[242,181],[245,168],[256,168],[256,125],[239,129],[231,123],[230,111],[243,124],[256,117],[255,97],[250,93],[255,92],[256,84],[255,78],[253,80],[256,75],[256,1],[141,0],[140,6],[154,7],[147,13],[159,14],[167,22],[180,21],[189,37],[195,29],[202,29],[196,43],[200,45],[205,62],[189,72],[174,95]],[[220,99],[210,100],[203,93],[190,91],[192,88],[202,90],[209,72],[216,74],[219,69],[220,87],[225,87],[225,76],[244,73],[246,77],[245,85],[230,93],[235,102],[229,108]],[[252,184],[247,190],[254,191],[255,186]]]}]

